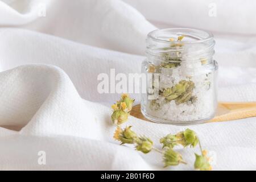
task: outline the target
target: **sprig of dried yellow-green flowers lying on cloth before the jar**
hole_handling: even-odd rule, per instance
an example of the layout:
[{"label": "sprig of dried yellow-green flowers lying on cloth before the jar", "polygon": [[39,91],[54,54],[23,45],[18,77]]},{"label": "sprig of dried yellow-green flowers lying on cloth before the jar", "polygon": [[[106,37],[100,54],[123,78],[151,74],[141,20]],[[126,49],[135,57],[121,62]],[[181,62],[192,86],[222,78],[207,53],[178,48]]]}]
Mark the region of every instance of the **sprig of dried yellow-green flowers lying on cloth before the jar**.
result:
[{"label": "sprig of dried yellow-green flowers lying on cloth before the jar", "polygon": [[[113,114],[111,118],[115,125],[121,125],[123,122],[127,121],[133,107],[133,102],[134,100],[127,94],[122,94],[121,99],[117,101],[116,104],[112,105]],[[207,151],[202,150],[197,134],[195,131],[190,129],[180,131],[175,135],[168,134],[166,137],[161,138],[160,143],[163,144],[162,150],[155,148],[150,138],[137,135],[133,130],[131,130],[131,126],[127,126],[125,129],[121,129],[120,126],[117,126],[113,138],[121,142],[121,144],[134,144],[135,149],[143,152],[144,154],[147,154],[152,150],[159,152],[163,155],[164,167],[187,164],[184,162],[181,154],[174,150],[175,146],[181,145],[185,148],[187,146],[196,147],[197,144],[199,144],[201,155],[195,154],[196,160],[194,167],[201,171],[212,170],[212,166],[210,166],[209,163],[210,159],[207,156]]]}]

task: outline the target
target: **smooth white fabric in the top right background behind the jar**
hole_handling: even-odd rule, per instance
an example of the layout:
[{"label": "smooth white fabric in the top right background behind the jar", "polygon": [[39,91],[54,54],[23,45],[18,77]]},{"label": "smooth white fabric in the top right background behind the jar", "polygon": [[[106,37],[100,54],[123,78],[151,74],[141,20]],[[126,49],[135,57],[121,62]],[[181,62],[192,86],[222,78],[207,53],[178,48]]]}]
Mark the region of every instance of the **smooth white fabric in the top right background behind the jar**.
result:
[{"label": "smooth white fabric in the top right background behind the jar", "polygon": [[[148,20],[233,34],[256,34],[256,2],[251,0],[123,0]],[[146,8],[145,8],[146,7]]]}]

